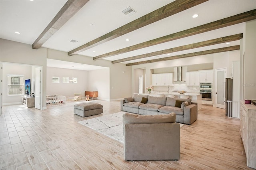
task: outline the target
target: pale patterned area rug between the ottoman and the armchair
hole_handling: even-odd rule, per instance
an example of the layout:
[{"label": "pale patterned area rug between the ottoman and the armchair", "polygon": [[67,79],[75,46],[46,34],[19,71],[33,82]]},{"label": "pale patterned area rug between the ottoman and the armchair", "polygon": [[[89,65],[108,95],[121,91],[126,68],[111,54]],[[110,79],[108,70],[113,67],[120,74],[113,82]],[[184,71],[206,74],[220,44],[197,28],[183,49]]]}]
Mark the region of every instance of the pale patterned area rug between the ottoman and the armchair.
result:
[{"label": "pale patterned area rug between the ottoman and the armchair", "polygon": [[[118,112],[110,115],[103,115],[101,117],[96,117],[84,121],[79,121],[78,123],[92,128],[110,138],[118,140],[124,143],[123,135],[123,114],[126,112]],[[180,124],[182,127],[184,124]]]}]

